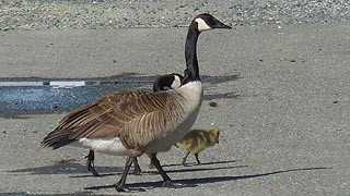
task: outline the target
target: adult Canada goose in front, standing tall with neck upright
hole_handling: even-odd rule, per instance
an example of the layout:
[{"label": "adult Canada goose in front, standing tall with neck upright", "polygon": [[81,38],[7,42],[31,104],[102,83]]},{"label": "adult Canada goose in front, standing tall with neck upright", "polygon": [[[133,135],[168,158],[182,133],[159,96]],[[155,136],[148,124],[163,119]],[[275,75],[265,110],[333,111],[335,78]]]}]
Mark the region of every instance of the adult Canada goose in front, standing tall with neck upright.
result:
[{"label": "adult Canada goose in front, standing tall with neck upright", "polygon": [[199,77],[197,40],[201,32],[231,28],[210,14],[197,15],[189,25],[186,44],[185,76],[178,88],[142,93],[124,90],[78,108],[66,115],[43,140],[43,146],[60,148],[68,144],[116,156],[127,156],[125,169],[116,189],[125,186],[132,160],[147,154],[164,181],[175,187],[156,158],[180,140],[192,126],[202,101]]}]

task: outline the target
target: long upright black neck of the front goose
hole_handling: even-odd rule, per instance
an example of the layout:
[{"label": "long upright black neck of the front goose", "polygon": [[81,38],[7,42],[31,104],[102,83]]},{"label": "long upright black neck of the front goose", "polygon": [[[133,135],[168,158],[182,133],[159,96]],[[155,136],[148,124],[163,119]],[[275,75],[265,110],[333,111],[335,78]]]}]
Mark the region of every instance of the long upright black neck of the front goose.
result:
[{"label": "long upright black neck of the front goose", "polygon": [[197,40],[200,32],[197,29],[196,22],[192,22],[188,28],[185,44],[186,70],[182,84],[190,81],[200,81],[197,60]]}]

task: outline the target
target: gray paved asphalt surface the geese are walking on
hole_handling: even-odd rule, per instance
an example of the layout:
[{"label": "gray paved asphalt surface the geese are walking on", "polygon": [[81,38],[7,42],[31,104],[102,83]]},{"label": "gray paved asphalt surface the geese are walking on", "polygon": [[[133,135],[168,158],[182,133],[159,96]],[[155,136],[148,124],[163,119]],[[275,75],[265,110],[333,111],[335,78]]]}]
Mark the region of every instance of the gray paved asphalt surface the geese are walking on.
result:
[{"label": "gray paved asphalt surface the geese are walking on", "polygon": [[[0,77],[182,72],[185,33],[2,32]],[[217,123],[220,144],[200,155],[202,166],[178,166],[184,151],[176,148],[160,156],[168,174],[189,187],[159,187],[148,158],[140,159],[144,174],[129,175],[128,184],[147,189],[140,195],[349,195],[349,23],[203,34],[198,54],[207,98],[195,126]],[[209,107],[212,100],[217,108]],[[85,150],[40,148],[63,114],[0,119],[0,193],[116,195],[110,185],[122,158],[97,155],[105,175],[92,177]]]}]

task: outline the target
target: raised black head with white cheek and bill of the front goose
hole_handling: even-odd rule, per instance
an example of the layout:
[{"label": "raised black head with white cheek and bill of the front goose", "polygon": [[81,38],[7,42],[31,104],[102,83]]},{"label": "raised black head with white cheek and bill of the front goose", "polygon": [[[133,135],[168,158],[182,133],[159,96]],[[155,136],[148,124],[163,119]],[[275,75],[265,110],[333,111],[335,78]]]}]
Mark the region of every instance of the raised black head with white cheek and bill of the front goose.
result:
[{"label": "raised black head with white cheek and bill of the front goose", "polygon": [[232,28],[231,26],[221,23],[219,20],[208,13],[197,15],[194,19],[191,25],[197,26],[198,32],[205,32],[212,28]]}]

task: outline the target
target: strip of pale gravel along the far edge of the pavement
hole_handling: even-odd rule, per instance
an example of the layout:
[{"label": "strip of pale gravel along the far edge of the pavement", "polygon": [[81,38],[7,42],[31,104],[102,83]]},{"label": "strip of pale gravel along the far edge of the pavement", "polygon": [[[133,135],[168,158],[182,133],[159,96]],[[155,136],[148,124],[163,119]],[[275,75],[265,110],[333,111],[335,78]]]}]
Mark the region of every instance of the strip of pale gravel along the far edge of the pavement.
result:
[{"label": "strip of pale gravel along the far edge of the pavement", "polygon": [[158,28],[209,12],[230,25],[349,21],[346,0],[18,0],[0,1],[0,29]]}]

